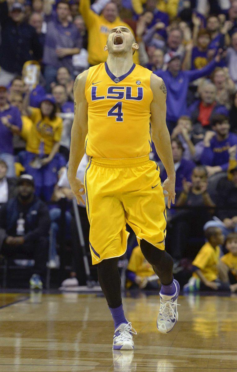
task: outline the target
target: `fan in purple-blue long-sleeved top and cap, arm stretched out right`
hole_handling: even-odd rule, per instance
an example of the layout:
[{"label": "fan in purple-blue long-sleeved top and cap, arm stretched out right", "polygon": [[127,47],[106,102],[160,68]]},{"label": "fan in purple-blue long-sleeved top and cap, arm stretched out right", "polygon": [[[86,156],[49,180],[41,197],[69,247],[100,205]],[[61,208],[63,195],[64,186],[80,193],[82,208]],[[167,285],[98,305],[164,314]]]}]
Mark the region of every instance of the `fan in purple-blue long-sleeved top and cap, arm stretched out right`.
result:
[{"label": "fan in purple-blue long-sleeved top and cap, arm stretched out right", "polygon": [[181,70],[181,59],[180,55],[170,56],[167,61],[167,70],[157,70],[154,72],[157,76],[164,80],[167,87],[167,114],[166,121],[170,133],[173,131],[177,120],[182,115],[187,114],[187,94],[189,83],[193,80],[198,79],[211,74],[217,64],[223,57],[223,51],[220,49],[218,54],[208,65],[201,70]]}]

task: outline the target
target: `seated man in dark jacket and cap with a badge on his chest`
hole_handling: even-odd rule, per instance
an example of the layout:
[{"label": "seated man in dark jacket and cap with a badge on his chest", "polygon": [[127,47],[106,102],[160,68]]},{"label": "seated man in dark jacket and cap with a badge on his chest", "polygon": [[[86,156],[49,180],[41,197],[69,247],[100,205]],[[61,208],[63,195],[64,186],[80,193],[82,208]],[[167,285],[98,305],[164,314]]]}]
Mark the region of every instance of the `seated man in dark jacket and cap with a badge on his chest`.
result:
[{"label": "seated man in dark jacket and cap with a badge on his chest", "polygon": [[34,191],[33,177],[23,174],[18,179],[17,196],[1,206],[0,253],[13,259],[22,258],[19,255],[34,259],[31,285],[33,287],[37,281],[42,288],[48,258],[50,218],[47,205],[34,195]]}]

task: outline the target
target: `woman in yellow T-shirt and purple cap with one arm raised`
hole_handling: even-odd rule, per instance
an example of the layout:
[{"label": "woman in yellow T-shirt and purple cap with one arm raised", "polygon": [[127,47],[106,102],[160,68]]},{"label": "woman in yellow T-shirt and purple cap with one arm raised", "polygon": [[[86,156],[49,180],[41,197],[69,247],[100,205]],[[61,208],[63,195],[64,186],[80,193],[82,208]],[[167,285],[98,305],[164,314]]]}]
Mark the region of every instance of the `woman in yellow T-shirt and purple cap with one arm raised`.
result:
[{"label": "woman in yellow T-shirt and purple cap with one arm raised", "polygon": [[18,169],[25,168],[35,181],[35,193],[46,202],[51,200],[58,181],[57,171],[65,166],[65,159],[58,154],[63,121],[56,116],[56,103],[51,94],[41,101],[40,108],[28,106],[29,93],[24,100],[24,110],[31,119],[30,128],[25,128],[26,151],[18,154]]}]

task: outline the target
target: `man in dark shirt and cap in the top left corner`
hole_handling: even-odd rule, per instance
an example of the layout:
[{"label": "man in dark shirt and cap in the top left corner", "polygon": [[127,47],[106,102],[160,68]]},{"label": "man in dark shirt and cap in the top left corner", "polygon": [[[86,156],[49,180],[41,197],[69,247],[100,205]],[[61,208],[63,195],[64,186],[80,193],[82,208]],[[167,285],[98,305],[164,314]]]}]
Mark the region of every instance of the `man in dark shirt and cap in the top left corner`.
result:
[{"label": "man in dark shirt and cap in the top left corner", "polygon": [[8,8],[0,1],[0,85],[7,85],[21,74],[23,64],[42,58],[42,46],[35,29],[25,22],[25,8],[15,2]]}]

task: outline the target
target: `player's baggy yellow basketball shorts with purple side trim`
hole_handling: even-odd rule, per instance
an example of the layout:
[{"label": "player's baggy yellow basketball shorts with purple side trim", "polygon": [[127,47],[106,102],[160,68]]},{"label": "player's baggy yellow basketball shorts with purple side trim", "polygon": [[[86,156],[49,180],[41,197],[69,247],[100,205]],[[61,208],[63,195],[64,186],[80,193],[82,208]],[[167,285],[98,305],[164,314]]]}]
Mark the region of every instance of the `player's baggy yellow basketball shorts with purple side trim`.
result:
[{"label": "player's baggy yellow basketball shorts with purple side trim", "polygon": [[84,187],[93,264],[125,253],[126,223],[138,244],[145,239],[164,250],[167,220],[160,170],[148,156],[90,157]]}]

